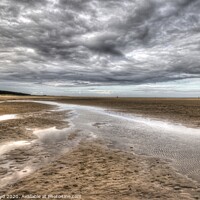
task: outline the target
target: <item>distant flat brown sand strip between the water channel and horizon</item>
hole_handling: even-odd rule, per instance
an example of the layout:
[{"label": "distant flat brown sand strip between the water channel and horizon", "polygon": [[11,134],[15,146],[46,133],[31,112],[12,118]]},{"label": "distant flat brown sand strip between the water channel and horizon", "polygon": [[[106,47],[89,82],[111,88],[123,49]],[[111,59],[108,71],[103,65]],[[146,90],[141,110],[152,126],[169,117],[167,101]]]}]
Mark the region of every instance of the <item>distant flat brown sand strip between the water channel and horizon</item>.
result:
[{"label": "distant flat brown sand strip between the water channel and horizon", "polygon": [[3,100],[45,100],[67,104],[100,106],[115,109],[120,112],[141,114],[183,123],[190,127],[200,127],[200,99],[199,98],[106,98],[106,97],[55,97],[55,96],[0,96]]}]

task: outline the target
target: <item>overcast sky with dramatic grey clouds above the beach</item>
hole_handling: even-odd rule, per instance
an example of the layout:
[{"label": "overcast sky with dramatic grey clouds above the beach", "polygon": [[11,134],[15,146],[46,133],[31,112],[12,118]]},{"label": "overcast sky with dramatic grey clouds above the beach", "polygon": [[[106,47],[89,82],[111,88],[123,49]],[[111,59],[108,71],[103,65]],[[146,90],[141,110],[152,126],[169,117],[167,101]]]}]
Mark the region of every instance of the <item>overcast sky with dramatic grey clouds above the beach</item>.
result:
[{"label": "overcast sky with dramatic grey clouds above the beach", "polygon": [[0,90],[200,96],[200,0],[1,0]]}]

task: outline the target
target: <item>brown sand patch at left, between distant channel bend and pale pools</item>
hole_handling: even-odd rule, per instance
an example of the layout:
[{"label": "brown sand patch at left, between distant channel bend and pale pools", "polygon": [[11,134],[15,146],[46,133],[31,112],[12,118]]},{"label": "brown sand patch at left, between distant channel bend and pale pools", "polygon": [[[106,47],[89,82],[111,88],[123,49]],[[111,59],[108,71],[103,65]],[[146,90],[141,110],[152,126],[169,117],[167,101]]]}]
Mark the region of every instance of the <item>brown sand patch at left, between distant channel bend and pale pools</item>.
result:
[{"label": "brown sand patch at left, between distant channel bend and pale pools", "polygon": [[[66,112],[51,112],[55,106],[32,102],[5,102],[0,104],[0,117],[17,114],[16,119],[0,121],[0,143],[36,138],[31,129],[48,127],[67,127],[62,120]],[[8,115],[9,116],[9,115]]]}]

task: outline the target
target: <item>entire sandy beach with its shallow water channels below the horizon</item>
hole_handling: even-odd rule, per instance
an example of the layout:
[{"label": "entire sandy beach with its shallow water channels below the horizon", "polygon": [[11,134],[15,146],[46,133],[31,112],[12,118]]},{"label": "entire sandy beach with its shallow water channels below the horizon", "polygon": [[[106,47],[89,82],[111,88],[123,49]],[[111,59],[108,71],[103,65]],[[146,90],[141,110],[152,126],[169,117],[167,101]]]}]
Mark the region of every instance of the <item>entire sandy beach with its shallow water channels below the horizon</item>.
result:
[{"label": "entire sandy beach with its shallow water channels below the horizon", "polygon": [[[187,153],[194,153],[193,149],[184,153],[182,145],[185,144],[187,150],[187,145],[197,144],[194,140],[199,138],[198,100],[9,99],[39,102],[7,101],[0,104],[1,115],[16,114],[16,118],[0,122],[1,147],[3,144],[8,146],[10,142],[24,141],[8,149],[0,160],[0,175],[1,179],[4,178],[2,196],[52,195],[52,199],[55,198],[53,195],[68,195],[65,196],[68,199],[199,198],[199,179],[193,178],[196,172],[189,176],[187,172],[192,170],[181,168],[186,166],[183,160],[191,161]],[[8,99],[2,97],[1,100]],[[155,109],[156,106],[158,109]],[[171,108],[168,112],[167,107]],[[149,133],[157,139],[150,137]],[[180,153],[176,152],[178,156],[170,157],[172,151],[169,149],[173,149],[176,143],[171,142],[170,146],[166,133],[171,137],[175,134],[175,142],[182,142],[176,146],[180,150]],[[142,134],[144,137],[141,137]],[[149,143],[144,142],[147,136]],[[188,143],[183,142],[186,139]],[[162,145],[163,141],[166,148],[159,147],[162,152],[156,152],[159,149],[156,142]],[[154,149],[148,146],[150,144]],[[196,151],[194,159],[200,153],[198,149]],[[191,163],[196,168],[198,162],[192,160]]]}]

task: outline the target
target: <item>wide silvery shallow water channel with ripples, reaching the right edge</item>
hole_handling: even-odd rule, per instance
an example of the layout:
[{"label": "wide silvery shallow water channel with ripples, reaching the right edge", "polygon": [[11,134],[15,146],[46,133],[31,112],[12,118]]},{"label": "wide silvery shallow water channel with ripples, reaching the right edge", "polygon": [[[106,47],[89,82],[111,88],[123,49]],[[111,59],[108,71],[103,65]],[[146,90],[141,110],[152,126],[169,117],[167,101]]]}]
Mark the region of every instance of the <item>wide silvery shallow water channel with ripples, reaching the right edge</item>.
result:
[{"label": "wide silvery shallow water channel with ripples, reaching the right edge", "polygon": [[44,103],[74,110],[71,122],[83,134],[93,134],[111,148],[168,160],[182,174],[200,181],[200,129],[98,107]]}]

